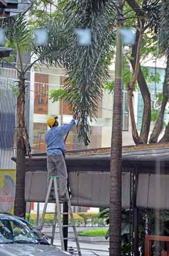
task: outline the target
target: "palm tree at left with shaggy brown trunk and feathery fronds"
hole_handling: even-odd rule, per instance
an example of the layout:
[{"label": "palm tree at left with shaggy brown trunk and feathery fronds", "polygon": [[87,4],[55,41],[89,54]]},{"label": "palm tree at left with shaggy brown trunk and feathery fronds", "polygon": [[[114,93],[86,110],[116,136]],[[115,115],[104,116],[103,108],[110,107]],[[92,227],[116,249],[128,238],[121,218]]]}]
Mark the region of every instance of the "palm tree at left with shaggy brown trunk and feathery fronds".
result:
[{"label": "palm tree at left with shaggy brown trunk and feathery fronds", "polygon": [[[63,46],[64,39],[61,39],[59,36],[60,27],[55,24],[47,28],[49,31],[49,41],[47,42],[47,45],[43,46],[43,53],[36,56],[35,60],[31,64],[30,60],[28,63],[23,63],[23,54],[25,52],[30,53],[30,56],[32,57],[39,48],[26,14],[23,13],[17,16],[9,17],[4,26],[7,30],[8,45],[12,44],[15,46],[15,50],[18,54],[18,63],[16,63],[16,66],[14,66],[18,74],[18,81],[17,85],[15,86],[17,92],[17,127],[15,134],[17,160],[14,213],[17,216],[25,217],[25,156],[29,156],[31,160],[31,146],[27,132],[27,125],[25,122],[25,96],[27,90],[26,73],[27,71],[30,71],[31,67],[38,61],[47,63],[45,60],[48,57],[51,58],[51,56],[51,64],[54,63],[55,65],[62,65],[62,54],[60,51],[63,51],[66,45]],[[53,41],[55,41],[55,45],[51,49],[50,45]],[[60,45],[61,42],[62,45]]]}]

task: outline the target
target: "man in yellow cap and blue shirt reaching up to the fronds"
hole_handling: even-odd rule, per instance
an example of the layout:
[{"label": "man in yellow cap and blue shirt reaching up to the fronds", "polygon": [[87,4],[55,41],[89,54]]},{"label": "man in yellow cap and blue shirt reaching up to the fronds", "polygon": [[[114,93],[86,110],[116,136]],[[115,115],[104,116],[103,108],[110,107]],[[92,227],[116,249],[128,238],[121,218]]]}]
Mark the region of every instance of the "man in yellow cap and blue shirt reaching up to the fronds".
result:
[{"label": "man in yellow cap and blue shirt reaching up to the fronds", "polygon": [[[48,181],[51,176],[58,176],[59,180],[59,200],[65,200],[65,189],[67,186],[67,168],[65,164],[65,142],[64,136],[76,124],[76,115],[67,125],[59,126],[58,117],[51,117],[47,120],[50,130],[45,133],[45,143],[47,148],[47,176]],[[50,195],[50,201],[54,200],[54,189]]]}]

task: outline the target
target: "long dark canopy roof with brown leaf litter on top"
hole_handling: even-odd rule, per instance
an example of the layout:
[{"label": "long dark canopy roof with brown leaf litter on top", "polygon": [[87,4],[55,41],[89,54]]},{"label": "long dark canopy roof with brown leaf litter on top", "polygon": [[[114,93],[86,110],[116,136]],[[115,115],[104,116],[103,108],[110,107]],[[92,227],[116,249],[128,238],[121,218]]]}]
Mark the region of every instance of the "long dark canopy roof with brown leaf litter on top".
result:
[{"label": "long dark canopy roof with brown leaf litter on top", "polygon": [[[16,157],[12,159],[16,161]],[[157,162],[163,173],[169,173],[169,143],[123,147],[123,172],[137,168],[140,173],[154,173]],[[66,164],[68,172],[110,172],[110,148],[67,151]],[[29,169],[45,171],[46,154],[33,154]]]}]

